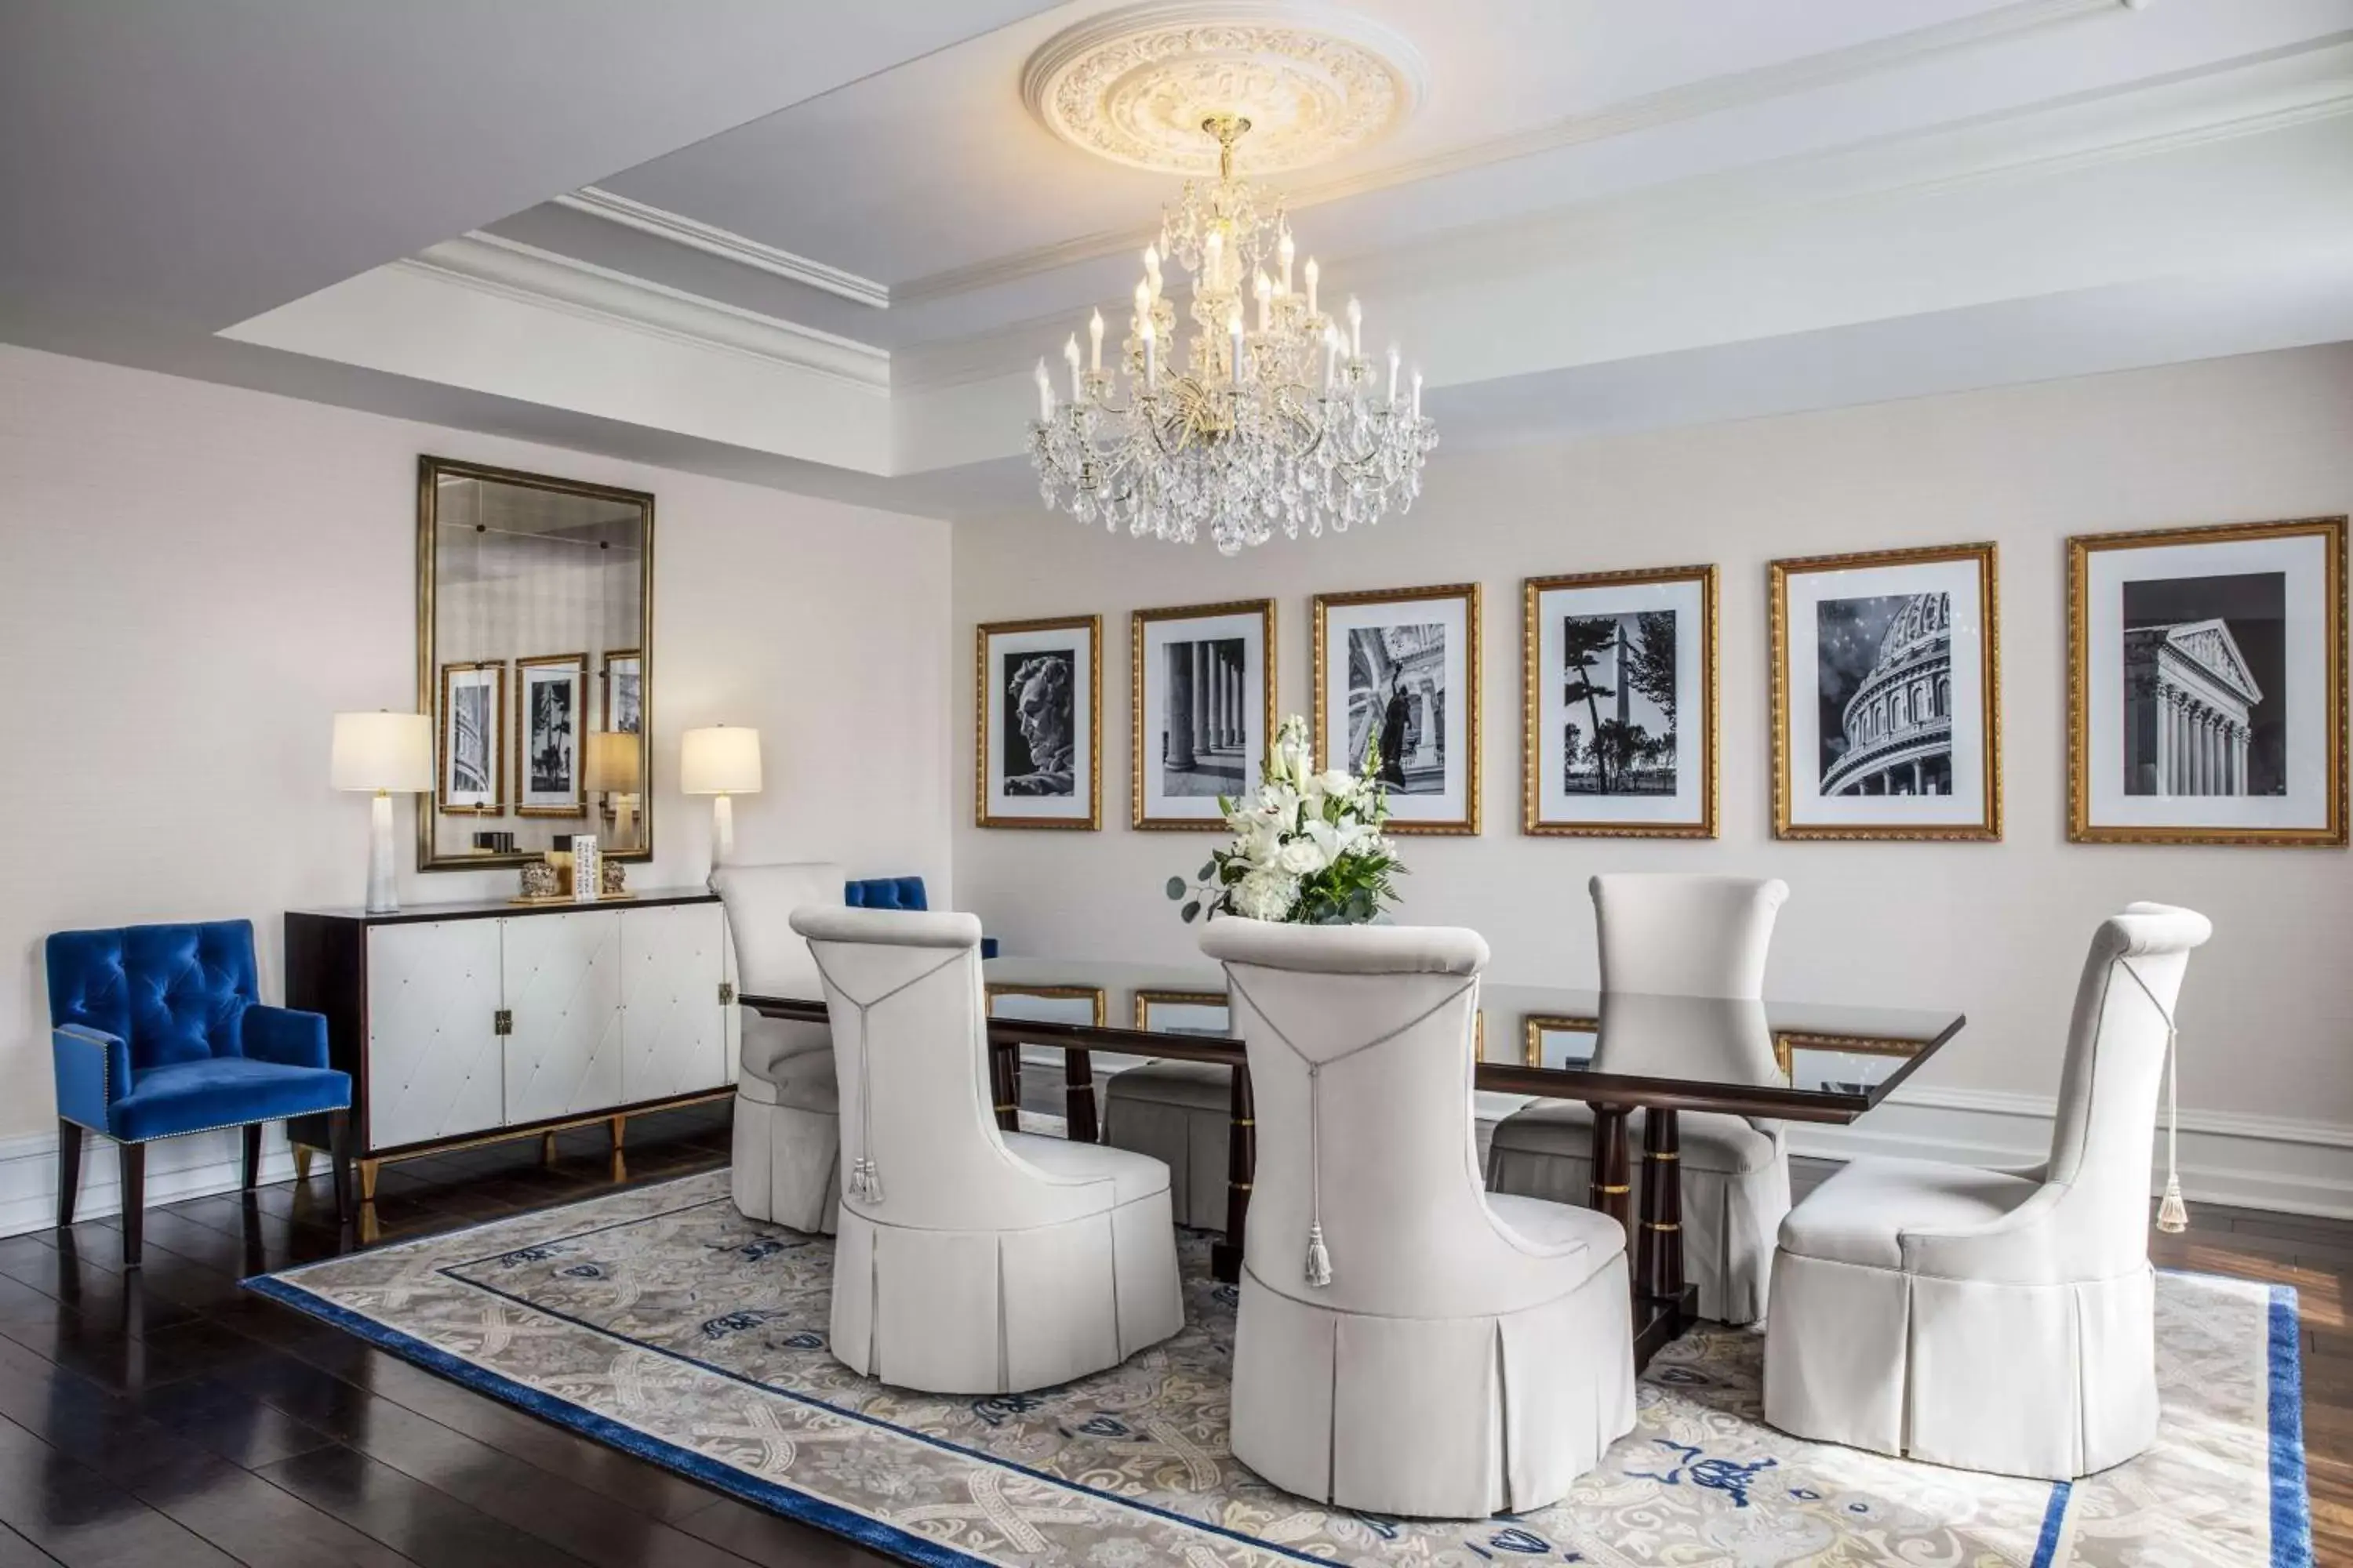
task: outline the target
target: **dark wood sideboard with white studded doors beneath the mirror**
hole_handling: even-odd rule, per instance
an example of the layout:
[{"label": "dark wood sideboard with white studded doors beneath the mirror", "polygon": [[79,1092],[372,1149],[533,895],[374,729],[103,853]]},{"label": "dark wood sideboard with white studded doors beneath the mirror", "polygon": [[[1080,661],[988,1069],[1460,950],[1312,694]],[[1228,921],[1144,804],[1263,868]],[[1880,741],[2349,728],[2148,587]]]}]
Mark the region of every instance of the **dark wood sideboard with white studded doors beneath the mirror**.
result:
[{"label": "dark wood sideboard with white studded doors beneath the mirror", "polygon": [[[708,889],[586,905],[289,910],[287,1006],[325,1013],[351,1074],[360,1201],[388,1159],[734,1091],[734,952]],[[296,1159],[327,1128],[294,1124]]]}]

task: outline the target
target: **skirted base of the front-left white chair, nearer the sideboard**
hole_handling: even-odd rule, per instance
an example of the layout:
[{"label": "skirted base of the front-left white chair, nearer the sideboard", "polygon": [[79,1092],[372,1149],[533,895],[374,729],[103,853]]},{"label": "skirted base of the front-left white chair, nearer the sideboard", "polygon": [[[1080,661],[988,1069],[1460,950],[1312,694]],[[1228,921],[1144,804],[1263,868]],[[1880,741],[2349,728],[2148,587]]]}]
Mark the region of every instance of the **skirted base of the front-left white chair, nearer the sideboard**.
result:
[{"label": "skirted base of the front-left white chair, nearer the sideboard", "polygon": [[854,1373],[925,1394],[1012,1394],[1118,1366],[1184,1328],[1167,1171],[1099,1145],[1002,1138],[1049,1175],[1108,1175],[1113,1206],[965,1232],[887,1225],[887,1194],[871,1213],[845,1204],[831,1349]]}]

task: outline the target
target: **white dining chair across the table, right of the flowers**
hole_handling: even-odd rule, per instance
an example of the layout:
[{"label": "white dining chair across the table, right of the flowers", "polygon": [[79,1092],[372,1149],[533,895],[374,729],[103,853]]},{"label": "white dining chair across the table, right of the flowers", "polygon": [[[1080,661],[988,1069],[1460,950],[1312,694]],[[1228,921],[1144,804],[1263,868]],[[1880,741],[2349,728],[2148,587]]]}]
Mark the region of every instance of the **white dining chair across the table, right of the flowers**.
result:
[{"label": "white dining chair across the table, right of the flowers", "polygon": [[[1765,952],[1786,882],[1706,875],[1593,879],[1605,992],[1718,997],[1765,994]],[[1628,1065],[1628,1072],[1640,1067]],[[1788,1213],[1781,1126],[1715,1112],[1682,1112],[1682,1267],[1699,1286],[1699,1316],[1753,1324],[1765,1316],[1774,1232]],[[1640,1145],[1642,1114],[1628,1117]],[[1487,1185],[1555,1204],[1591,1204],[1593,1112],[1577,1100],[1539,1100],[1494,1128]]]}]

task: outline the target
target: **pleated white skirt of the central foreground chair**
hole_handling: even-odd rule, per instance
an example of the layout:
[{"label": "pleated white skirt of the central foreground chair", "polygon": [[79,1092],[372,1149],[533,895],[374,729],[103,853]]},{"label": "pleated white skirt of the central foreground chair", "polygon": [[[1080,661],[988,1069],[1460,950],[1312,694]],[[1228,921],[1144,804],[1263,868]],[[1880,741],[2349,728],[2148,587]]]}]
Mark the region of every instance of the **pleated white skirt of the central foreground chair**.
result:
[{"label": "pleated white skirt of the central foreground chair", "polygon": [[1245,1262],[1233,1458],[1287,1493],[1369,1514],[1485,1519],[1555,1502],[1633,1432],[1626,1293],[1621,1241],[1567,1295],[1501,1316],[1332,1312]]}]

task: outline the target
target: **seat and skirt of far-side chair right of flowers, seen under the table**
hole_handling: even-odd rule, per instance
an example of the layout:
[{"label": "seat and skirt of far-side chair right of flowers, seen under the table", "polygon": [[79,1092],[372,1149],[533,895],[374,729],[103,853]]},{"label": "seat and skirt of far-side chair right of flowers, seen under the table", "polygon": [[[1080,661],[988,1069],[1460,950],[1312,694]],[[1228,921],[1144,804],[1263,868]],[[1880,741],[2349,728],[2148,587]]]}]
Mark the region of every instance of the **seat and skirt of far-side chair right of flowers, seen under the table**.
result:
[{"label": "seat and skirt of far-side chair right of flowers, seen under the table", "polygon": [[[1682,1269],[1699,1286],[1699,1316],[1755,1324],[1765,1316],[1774,1234],[1788,1213],[1788,1157],[1779,1131],[1744,1117],[1682,1112]],[[1642,1112],[1626,1119],[1640,1150]],[[1539,1100],[1494,1128],[1487,1187],[1553,1204],[1593,1204],[1593,1112]],[[1640,1187],[1640,1182],[1638,1182]]]}]

